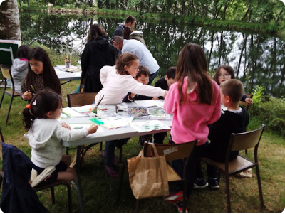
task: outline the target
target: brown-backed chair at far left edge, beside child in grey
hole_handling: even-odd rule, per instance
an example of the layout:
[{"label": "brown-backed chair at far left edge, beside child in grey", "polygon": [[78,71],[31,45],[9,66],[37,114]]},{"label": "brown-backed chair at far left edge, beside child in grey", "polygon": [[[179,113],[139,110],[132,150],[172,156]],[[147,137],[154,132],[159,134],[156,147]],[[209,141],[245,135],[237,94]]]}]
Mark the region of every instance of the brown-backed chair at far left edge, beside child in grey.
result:
[{"label": "brown-backed chair at far left edge, beside child in grey", "polygon": [[[1,72],[2,72],[2,75],[4,77],[5,86],[4,86],[4,91],[3,91],[3,94],[1,97],[0,108],[1,108],[2,102],[4,100],[4,95],[6,94],[9,97],[11,97],[10,105],[9,105],[9,109],[8,109],[8,113],[7,113],[7,117],[6,117],[6,122],[5,122],[5,124],[7,124],[13,99],[14,99],[14,97],[20,97],[21,95],[19,93],[15,92],[14,80],[13,80],[13,77],[11,75],[11,70],[6,69],[6,68],[1,68]],[[12,84],[11,90],[6,90],[7,89],[7,79],[11,80],[11,84]]]}]

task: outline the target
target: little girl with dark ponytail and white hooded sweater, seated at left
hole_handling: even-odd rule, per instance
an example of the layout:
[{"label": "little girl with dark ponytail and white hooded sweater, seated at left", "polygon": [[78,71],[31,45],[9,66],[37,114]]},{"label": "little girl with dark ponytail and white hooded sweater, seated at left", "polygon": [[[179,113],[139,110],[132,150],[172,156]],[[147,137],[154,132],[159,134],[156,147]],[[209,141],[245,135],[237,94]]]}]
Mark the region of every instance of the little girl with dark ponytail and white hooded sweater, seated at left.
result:
[{"label": "little girl with dark ponytail and white hooded sweater, seated at left", "polygon": [[[31,186],[53,183],[58,180],[72,181],[76,171],[69,167],[71,157],[63,154],[61,140],[76,141],[95,133],[98,125],[74,130],[68,124],[58,122],[62,112],[62,98],[56,92],[38,92],[23,111],[23,122],[31,146],[31,162],[35,178]],[[33,175],[33,173],[32,173]]]}]

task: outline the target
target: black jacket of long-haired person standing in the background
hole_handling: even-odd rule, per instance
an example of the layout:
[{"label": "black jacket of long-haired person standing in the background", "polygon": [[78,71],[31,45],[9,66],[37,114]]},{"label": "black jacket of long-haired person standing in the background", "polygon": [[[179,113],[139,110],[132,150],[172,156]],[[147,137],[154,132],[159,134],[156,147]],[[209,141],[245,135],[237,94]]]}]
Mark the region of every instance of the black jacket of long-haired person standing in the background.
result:
[{"label": "black jacket of long-haired person standing in the background", "polygon": [[86,78],[85,92],[99,92],[103,88],[100,69],[105,65],[115,65],[115,55],[115,48],[107,40],[107,36],[98,36],[86,43],[81,56],[81,77]]}]

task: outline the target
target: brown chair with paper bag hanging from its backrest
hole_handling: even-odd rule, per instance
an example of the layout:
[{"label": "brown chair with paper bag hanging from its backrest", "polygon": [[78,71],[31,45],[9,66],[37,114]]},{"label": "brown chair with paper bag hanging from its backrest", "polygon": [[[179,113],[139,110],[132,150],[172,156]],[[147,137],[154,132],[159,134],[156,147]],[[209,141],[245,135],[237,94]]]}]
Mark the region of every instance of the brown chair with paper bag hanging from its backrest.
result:
[{"label": "brown chair with paper bag hanging from its backrest", "polygon": [[[186,173],[187,173],[187,165],[192,155],[192,151],[195,149],[198,140],[195,139],[194,141],[190,141],[183,144],[154,144],[155,148],[157,149],[158,155],[162,156],[165,155],[165,160],[167,161],[167,176],[168,176],[168,183],[179,183],[180,186],[183,186],[183,213],[186,212],[186,191],[187,191],[187,181],[186,181]],[[145,147],[145,156],[152,156],[152,150],[148,143],[144,144]],[[165,151],[170,151],[165,154]],[[172,168],[170,164],[173,160],[178,159],[185,159],[185,166],[183,169],[183,176],[180,177],[178,173]],[[120,183],[119,183],[119,191],[118,191],[118,198],[117,202],[120,200],[120,193],[123,183],[123,173],[127,166],[123,164],[120,170]],[[139,205],[138,199],[136,199],[135,203],[135,212],[138,213]]]}]

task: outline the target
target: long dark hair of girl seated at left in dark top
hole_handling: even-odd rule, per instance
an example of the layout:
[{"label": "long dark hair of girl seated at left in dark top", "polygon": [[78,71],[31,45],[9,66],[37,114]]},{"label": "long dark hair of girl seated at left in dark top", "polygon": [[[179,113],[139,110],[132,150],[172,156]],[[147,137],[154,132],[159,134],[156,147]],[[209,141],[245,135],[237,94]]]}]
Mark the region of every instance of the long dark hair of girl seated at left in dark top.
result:
[{"label": "long dark hair of girl seated at left in dark top", "polygon": [[[43,85],[57,92],[58,95],[61,95],[61,82],[56,75],[53,65],[51,65],[51,60],[46,50],[40,47],[33,48],[28,55],[28,61],[32,58],[43,63]],[[26,75],[27,90],[31,90],[30,85],[34,85],[36,75],[37,74],[31,70],[31,66],[28,66],[28,73]]]}]

